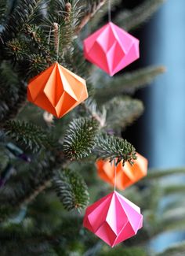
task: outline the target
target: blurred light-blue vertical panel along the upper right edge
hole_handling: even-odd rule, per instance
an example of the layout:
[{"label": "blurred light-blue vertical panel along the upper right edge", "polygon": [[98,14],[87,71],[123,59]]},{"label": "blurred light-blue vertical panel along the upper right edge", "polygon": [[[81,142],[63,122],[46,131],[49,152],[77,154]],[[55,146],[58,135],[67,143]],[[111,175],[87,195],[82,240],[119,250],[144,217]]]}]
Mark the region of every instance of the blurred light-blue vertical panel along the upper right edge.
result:
[{"label": "blurred light-blue vertical panel along the upper right edge", "polygon": [[168,0],[144,28],[146,65],[167,72],[145,92],[143,153],[151,167],[185,165],[185,1]]}]

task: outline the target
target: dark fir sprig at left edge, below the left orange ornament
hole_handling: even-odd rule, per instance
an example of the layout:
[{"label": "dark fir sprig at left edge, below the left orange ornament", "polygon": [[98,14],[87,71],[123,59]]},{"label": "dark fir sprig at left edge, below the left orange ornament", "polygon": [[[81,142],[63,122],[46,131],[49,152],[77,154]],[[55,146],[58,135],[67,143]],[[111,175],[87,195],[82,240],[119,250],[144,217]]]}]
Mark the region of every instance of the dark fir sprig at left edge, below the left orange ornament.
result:
[{"label": "dark fir sprig at left edge, below the left orange ornament", "polygon": [[51,150],[56,146],[53,138],[47,132],[31,123],[7,121],[4,129],[6,135],[9,135],[17,142],[23,143],[33,152],[37,152],[41,148]]}]

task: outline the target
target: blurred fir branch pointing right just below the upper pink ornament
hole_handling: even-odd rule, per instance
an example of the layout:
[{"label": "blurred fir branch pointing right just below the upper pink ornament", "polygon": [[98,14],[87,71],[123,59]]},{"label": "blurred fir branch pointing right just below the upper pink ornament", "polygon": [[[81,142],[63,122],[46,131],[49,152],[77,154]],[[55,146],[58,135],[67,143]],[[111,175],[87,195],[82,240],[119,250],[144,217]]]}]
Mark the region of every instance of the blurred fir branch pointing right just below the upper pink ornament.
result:
[{"label": "blurred fir branch pointing right just below the upper pink ornament", "polygon": [[[165,72],[163,66],[147,67],[133,72],[127,72],[122,76],[115,76],[114,80],[110,79],[105,84],[105,87],[100,87],[96,90],[96,98],[107,99],[112,97],[112,87],[114,86],[114,95],[121,95],[122,93],[133,93],[139,88],[150,84],[154,78]],[[103,81],[98,81],[102,83]],[[114,84],[114,85],[113,85]]]}]

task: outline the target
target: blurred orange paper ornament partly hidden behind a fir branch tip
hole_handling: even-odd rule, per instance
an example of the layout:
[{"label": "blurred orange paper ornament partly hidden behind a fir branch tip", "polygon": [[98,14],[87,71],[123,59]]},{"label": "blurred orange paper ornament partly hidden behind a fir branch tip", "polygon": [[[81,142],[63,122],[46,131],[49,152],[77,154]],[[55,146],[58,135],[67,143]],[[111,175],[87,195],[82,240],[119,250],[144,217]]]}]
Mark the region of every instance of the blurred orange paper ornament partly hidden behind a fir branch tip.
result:
[{"label": "blurred orange paper ornament partly hidden behind a fir branch tip", "polygon": [[147,159],[138,153],[136,156],[134,165],[125,162],[123,166],[121,161],[116,167],[108,160],[98,160],[96,161],[98,175],[102,180],[114,186],[114,169],[116,168],[116,187],[120,190],[125,189],[147,175]]}]

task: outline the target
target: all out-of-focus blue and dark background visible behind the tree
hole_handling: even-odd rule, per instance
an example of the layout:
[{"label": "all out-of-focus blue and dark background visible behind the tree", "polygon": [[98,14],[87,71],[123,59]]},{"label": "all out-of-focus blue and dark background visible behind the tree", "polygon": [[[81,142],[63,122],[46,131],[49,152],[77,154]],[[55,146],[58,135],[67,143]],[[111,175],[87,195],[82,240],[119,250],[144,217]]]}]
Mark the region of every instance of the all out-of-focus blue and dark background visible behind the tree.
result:
[{"label": "all out-of-focus blue and dark background visible behind the tree", "polygon": [[[123,1],[123,5],[132,8],[138,2]],[[148,158],[152,169],[185,165],[184,14],[185,1],[168,0],[135,34],[140,38],[140,61],[136,66],[161,64],[166,67],[165,74],[150,87],[136,93],[136,98],[143,100],[145,111],[124,134]],[[183,175],[162,180],[164,184],[177,186],[183,185],[184,181]],[[165,197],[159,213],[172,203],[176,203],[176,195]],[[184,231],[164,232],[153,239],[150,247],[161,252],[184,238]],[[185,252],[180,255],[185,255]]]}]

